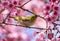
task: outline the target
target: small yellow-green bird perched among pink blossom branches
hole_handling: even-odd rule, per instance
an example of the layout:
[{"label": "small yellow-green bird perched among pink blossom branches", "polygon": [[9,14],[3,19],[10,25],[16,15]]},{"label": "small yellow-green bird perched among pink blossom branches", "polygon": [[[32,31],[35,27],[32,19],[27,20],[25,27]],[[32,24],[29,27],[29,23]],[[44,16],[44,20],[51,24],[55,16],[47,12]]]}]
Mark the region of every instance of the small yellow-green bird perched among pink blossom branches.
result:
[{"label": "small yellow-green bird perched among pink blossom branches", "polygon": [[29,17],[21,16],[21,17],[15,17],[14,19],[19,21],[24,26],[31,26],[34,24],[35,20],[37,18],[37,15],[32,15]]}]

